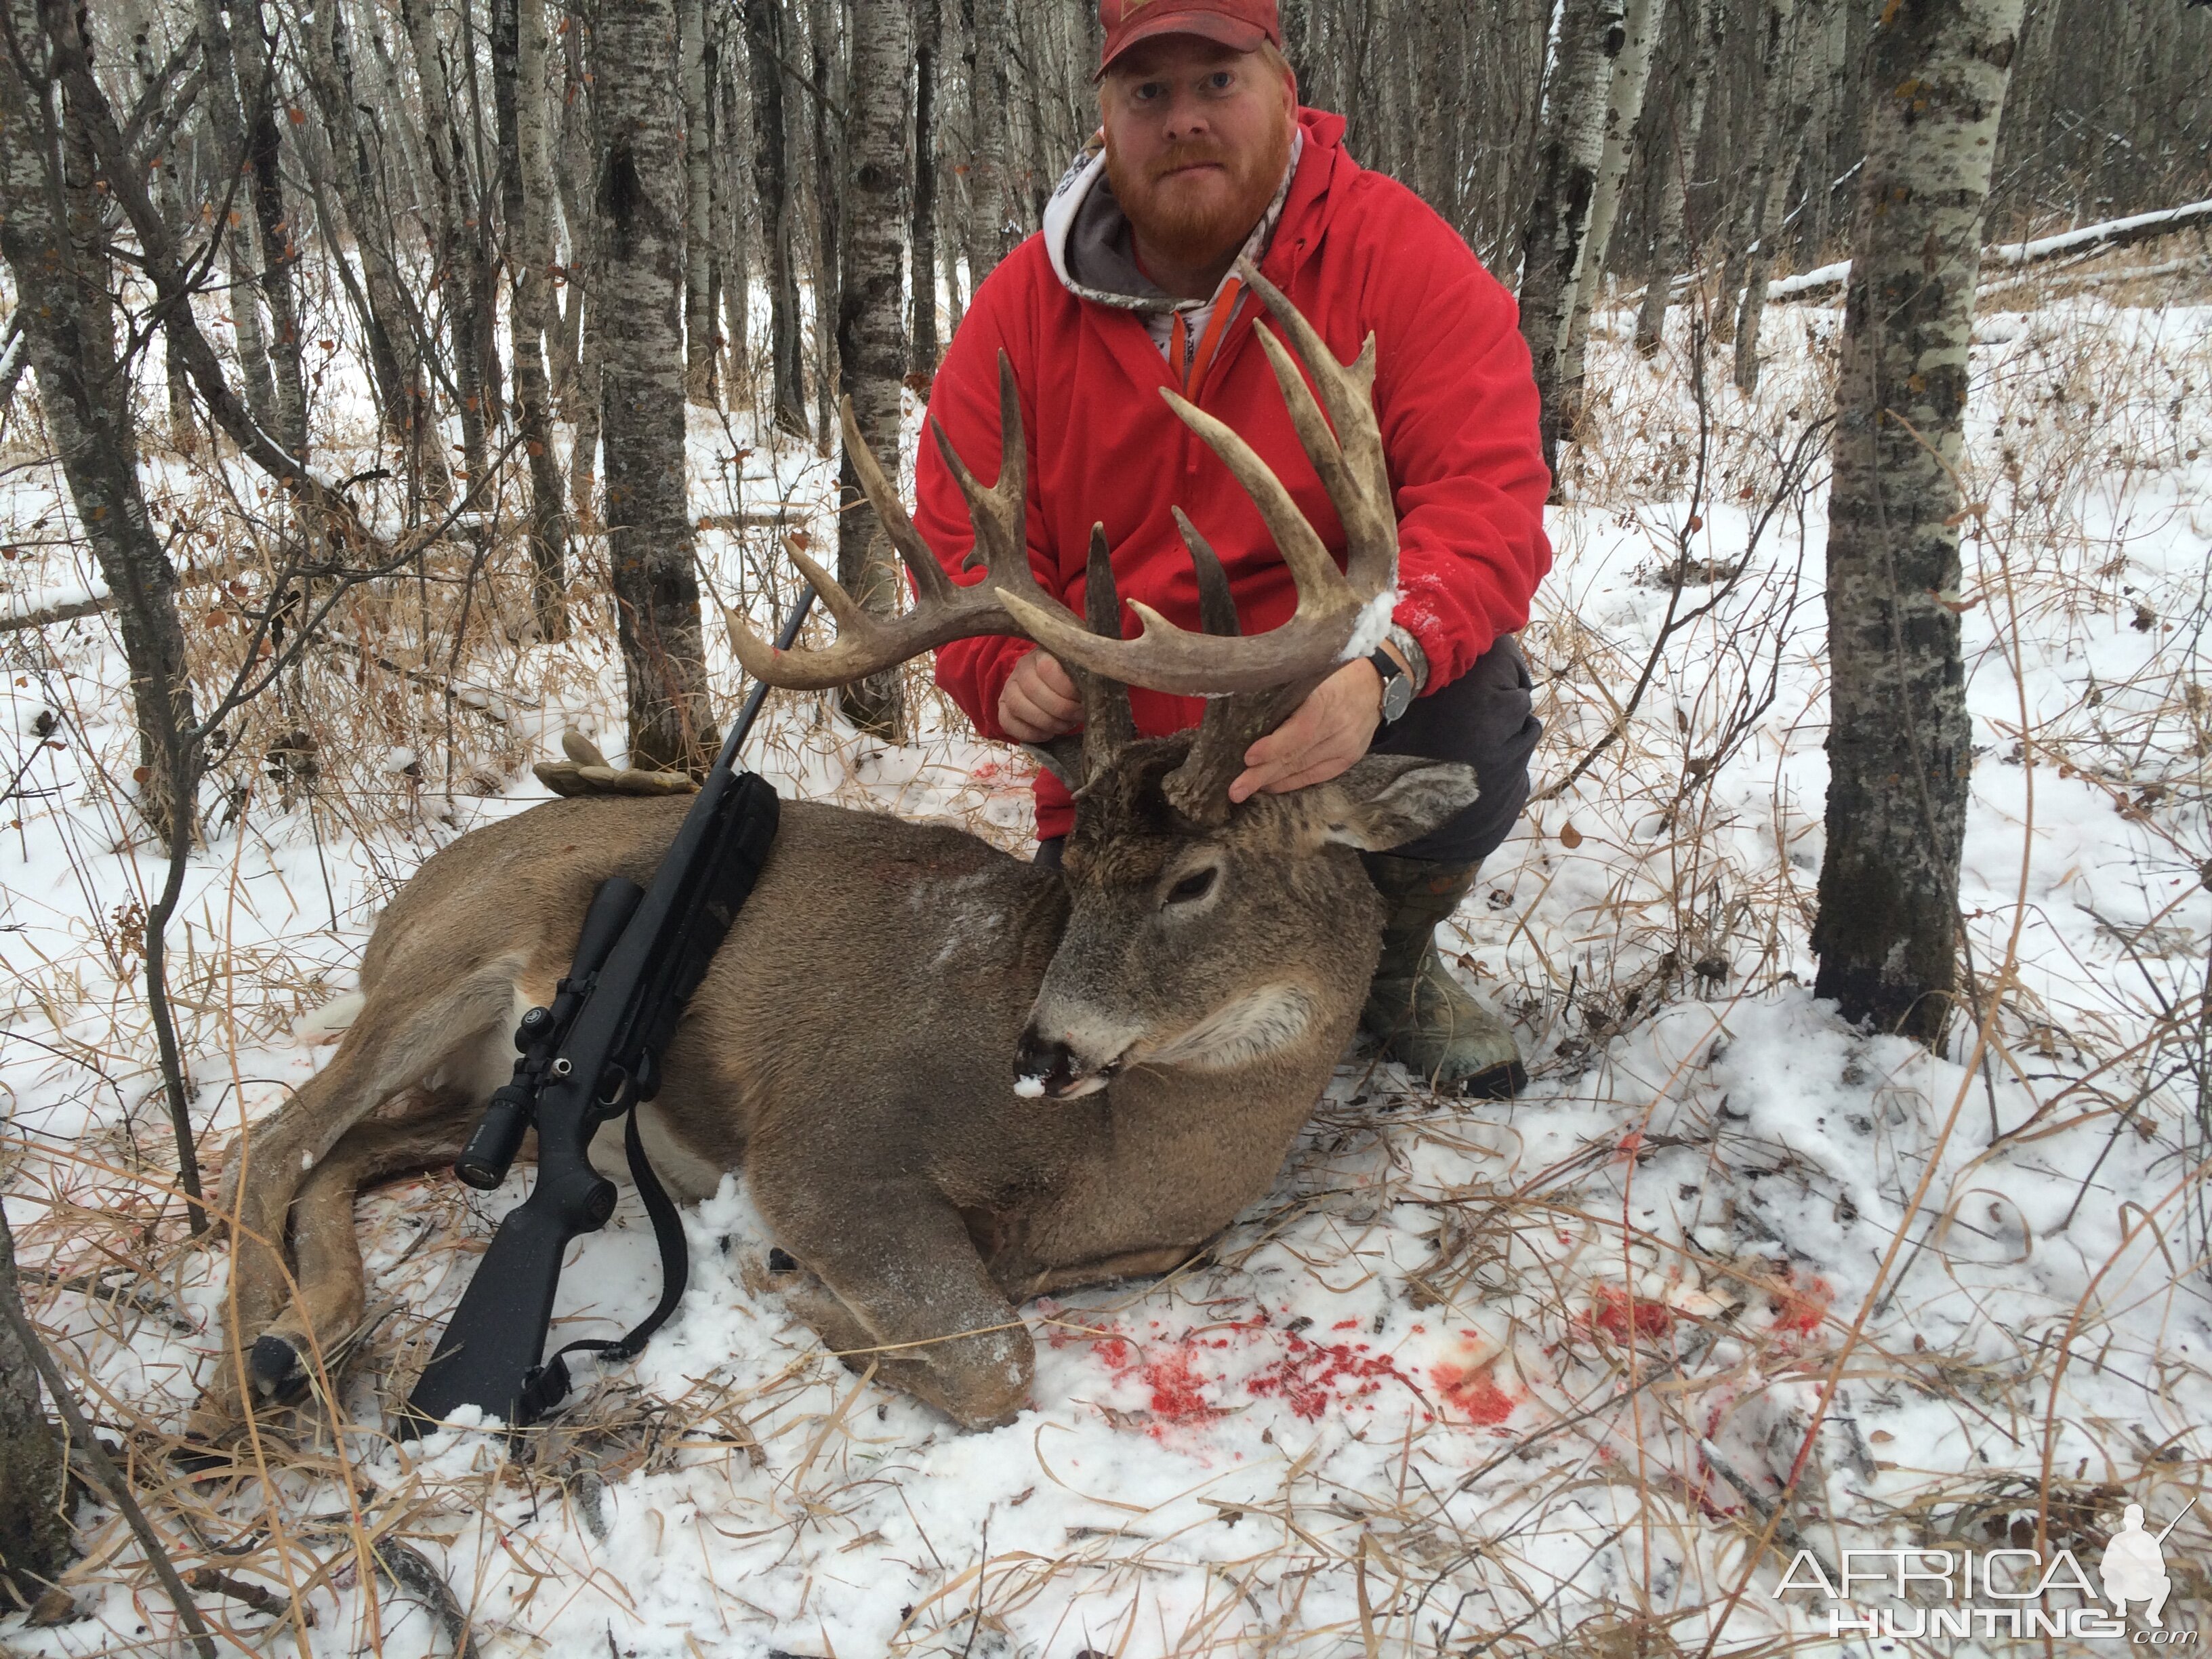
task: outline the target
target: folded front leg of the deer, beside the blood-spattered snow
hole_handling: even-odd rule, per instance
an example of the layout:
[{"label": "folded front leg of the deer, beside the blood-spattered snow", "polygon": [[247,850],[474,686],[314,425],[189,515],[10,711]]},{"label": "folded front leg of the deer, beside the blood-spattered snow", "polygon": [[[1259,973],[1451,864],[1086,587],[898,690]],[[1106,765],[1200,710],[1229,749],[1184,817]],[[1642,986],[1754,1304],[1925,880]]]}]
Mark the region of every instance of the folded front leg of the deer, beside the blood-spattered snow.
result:
[{"label": "folded front leg of the deer, beside the blood-spattered snow", "polygon": [[799,1208],[776,1206],[774,1186],[763,1170],[761,1212],[821,1281],[818,1294],[801,1285],[790,1296],[792,1312],[852,1356],[847,1365],[876,1360],[878,1376],[967,1429],[1011,1422],[1029,1405],[1029,1329],[942,1192],[922,1181],[854,1183],[834,1203]]}]

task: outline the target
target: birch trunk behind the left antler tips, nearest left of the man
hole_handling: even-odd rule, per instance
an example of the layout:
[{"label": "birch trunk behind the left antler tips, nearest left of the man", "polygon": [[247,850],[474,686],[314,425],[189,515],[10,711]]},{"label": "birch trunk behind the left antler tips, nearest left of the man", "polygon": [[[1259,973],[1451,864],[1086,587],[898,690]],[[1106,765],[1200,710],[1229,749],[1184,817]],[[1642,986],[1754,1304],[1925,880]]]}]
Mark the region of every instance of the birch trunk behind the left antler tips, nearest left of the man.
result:
[{"label": "birch trunk behind the left antler tips, nearest left of the man", "polygon": [[[845,148],[845,243],[838,281],[838,389],[852,400],[860,440],[898,456],[900,392],[907,378],[905,299],[900,294],[900,192],[907,181],[907,58],[911,0],[860,0],[854,7],[852,82]],[[927,243],[922,243],[927,248]],[[927,265],[927,254],[925,254]],[[896,460],[894,460],[896,465]],[[898,611],[898,560],[860,495],[852,449],[841,445],[836,575],[845,593],[876,615]],[[896,737],[896,668],[847,686],[847,719],[863,732]]]}]

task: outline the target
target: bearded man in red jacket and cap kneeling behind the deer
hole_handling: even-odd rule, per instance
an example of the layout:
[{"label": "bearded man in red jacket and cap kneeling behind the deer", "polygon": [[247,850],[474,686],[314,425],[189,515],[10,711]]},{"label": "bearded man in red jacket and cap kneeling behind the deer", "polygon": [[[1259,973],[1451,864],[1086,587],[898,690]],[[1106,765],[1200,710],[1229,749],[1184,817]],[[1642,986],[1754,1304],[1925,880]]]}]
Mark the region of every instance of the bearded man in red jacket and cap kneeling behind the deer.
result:
[{"label": "bearded man in red jacket and cap kneeling behind the deer", "polygon": [[[1124,599],[1197,626],[1179,504],[1221,555],[1243,633],[1283,624],[1290,568],[1228,469],[1159,396],[1225,420],[1290,487],[1343,562],[1343,529],[1298,447],[1232,274],[1250,257],[1338,358],[1376,336],[1376,416],[1398,507],[1389,639],[1345,664],[1252,745],[1243,801],[1323,783],[1369,750],[1464,761],[1482,799],[1436,834],[1367,854],[1389,905],[1363,1024],[1438,1088],[1511,1095],[1506,1026],[1438,958],[1451,916],[1528,799],[1528,666],[1511,633],[1551,568],[1537,394],[1511,296],[1411,190],[1360,168],[1345,122],[1298,106],[1274,0],[1104,0],[1102,133],[1060,181],[1042,234],[975,290],[929,394],[960,453],[998,451],[998,354],[1029,429],[1029,560],[1077,615],[1093,522]],[[933,445],[922,535],[956,582],[973,546]],[[1042,743],[1082,723],[1066,670],[1026,639],[938,650],[938,684],[987,737]],[[1137,728],[1199,723],[1201,699],[1133,688]],[[1057,860],[1068,792],[1037,779],[1040,860]]]}]

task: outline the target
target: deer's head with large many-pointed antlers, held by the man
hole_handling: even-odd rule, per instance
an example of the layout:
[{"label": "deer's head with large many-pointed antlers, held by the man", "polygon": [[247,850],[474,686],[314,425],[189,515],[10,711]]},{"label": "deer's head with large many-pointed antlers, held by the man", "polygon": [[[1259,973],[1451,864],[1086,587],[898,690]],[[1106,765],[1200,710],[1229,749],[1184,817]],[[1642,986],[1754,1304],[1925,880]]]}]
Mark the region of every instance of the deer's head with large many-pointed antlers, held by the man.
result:
[{"label": "deer's head with large many-pointed antlers, held by the man", "polygon": [[[951,580],[920,540],[847,405],[845,445],[914,577],[914,608],[872,615],[794,546],[792,560],[838,622],[836,644],[781,653],[728,615],[745,670],[794,690],[843,686],[973,635],[1033,639],[1075,677],[1082,737],[1033,750],[1075,792],[1077,812],[1064,858],[1068,925],[1015,1057],[1020,1093],[1086,1095],[1133,1066],[1234,1071],[1318,1037],[1316,1024],[1345,1026],[1365,995],[1380,929],[1356,849],[1411,841],[1475,799],[1464,765],[1367,757],[1329,783],[1230,803],[1245,750],[1380,639],[1398,575],[1371,396],[1374,336],[1343,365],[1267,279],[1250,263],[1239,272],[1296,349],[1259,330],[1298,442],[1345,524],[1345,566],[1243,438],[1164,396],[1252,495],[1290,564],[1298,606],[1281,628],[1239,630],[1221,562],[1181,511],[1177,526],[1199,575],[1197,633],[1133,599],[1141,630],[1121,637],[1102,526],[1091,535],[1086,615],[1044,593],[1029,566],[1026,438],[1004,354],[995,484],[984,489],[931,420],[975,526],[967,560],[980,566],[975,582]],[[1139,739],[1126,686],[1203,695],[1208,708],[1192,732]]]}]

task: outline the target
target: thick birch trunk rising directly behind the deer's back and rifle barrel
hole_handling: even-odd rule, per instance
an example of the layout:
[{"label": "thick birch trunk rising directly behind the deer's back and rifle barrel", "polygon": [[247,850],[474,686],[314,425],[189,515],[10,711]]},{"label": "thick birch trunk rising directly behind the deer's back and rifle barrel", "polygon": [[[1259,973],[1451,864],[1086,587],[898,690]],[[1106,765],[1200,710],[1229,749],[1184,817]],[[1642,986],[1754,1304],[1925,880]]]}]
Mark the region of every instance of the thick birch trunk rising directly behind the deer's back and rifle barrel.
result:
[{"label": "thick birch trunk rising directly behind the deer's back and rifle barrel", "polygon": [[714,759],[684,467],[684,100],[675,0],[593,18],[599,113],[595,288],[606,447],[606,562],[628,670],[630,765]]}]

